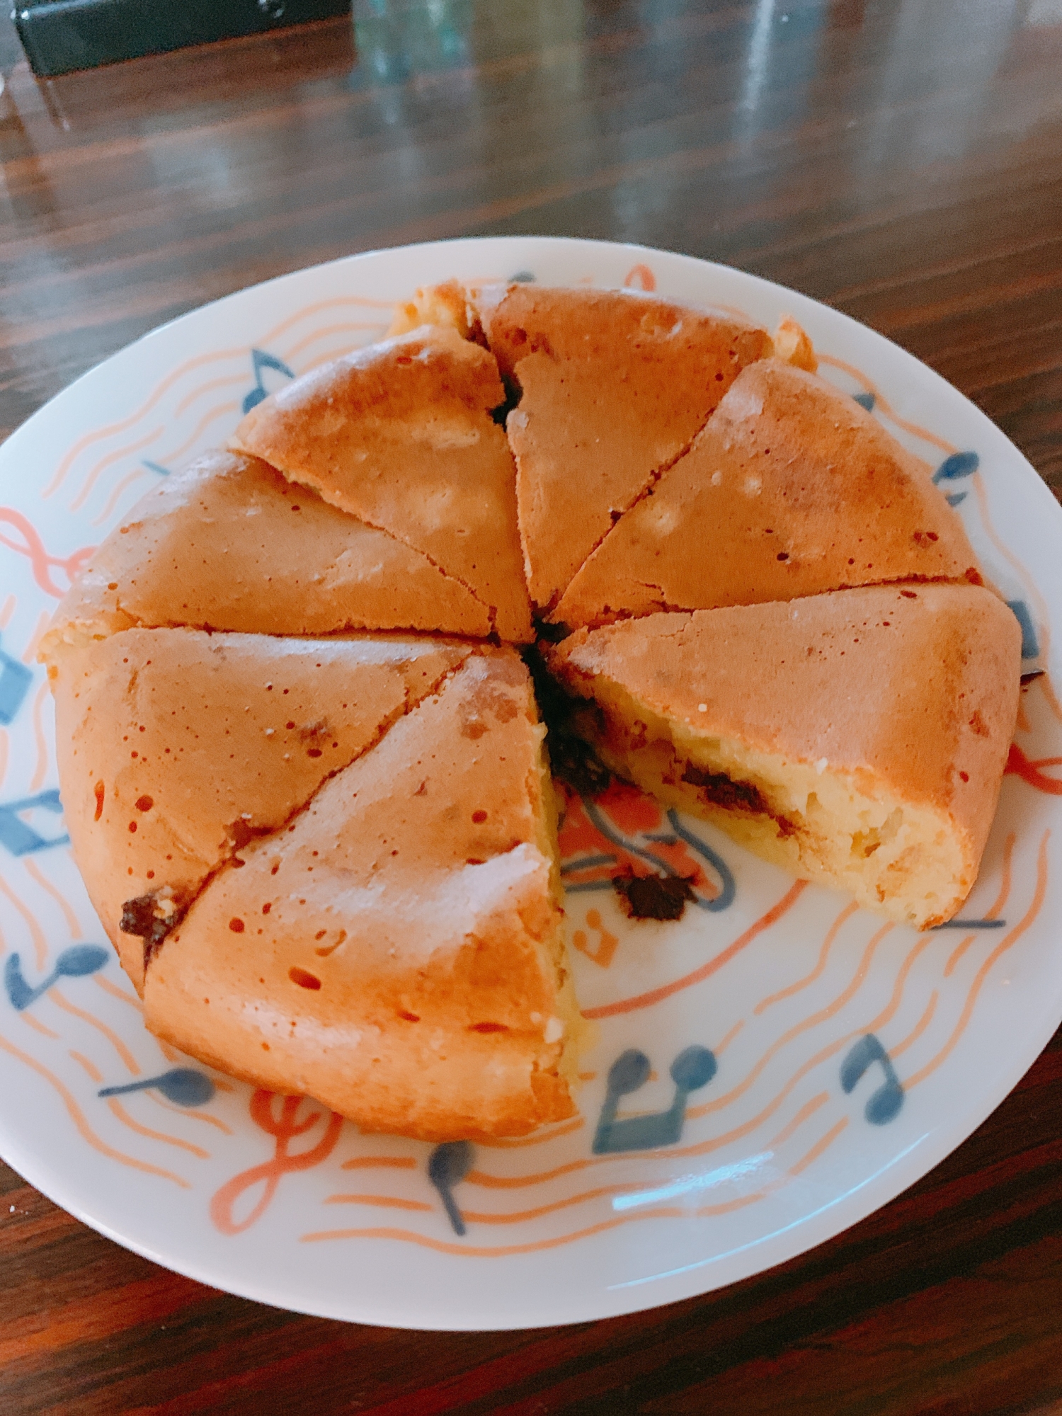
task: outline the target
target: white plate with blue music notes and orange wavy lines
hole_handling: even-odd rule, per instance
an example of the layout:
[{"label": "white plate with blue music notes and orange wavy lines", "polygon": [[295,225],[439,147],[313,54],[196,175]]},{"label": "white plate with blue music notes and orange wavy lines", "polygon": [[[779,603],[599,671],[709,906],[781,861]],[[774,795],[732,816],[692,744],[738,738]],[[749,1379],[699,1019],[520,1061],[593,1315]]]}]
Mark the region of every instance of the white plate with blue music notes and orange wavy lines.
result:
[{"label": "white plate with blue music notes and orange wavy lines", "polygon": [[[864,404],[872,395],[886,426],[943,469],[990,573],[1021,606],[1024,667],[1051,671],[1022,694],[1021,770],[1004,782],[969,927],[918,936],[884,925],[840,895],[794,886],[704,824],[668,823],[644,799],[599,816],[605,837],[569,816],[569,867],[613,855],[617,840],[681,848],[702,864],[715,908],[627,923],[607,885],[569,893],[579,997],[600,1020],[582,1116],[474,1147],[452,1191],[463,1235],[429,1180],[430,1147],[211,1079],[144,1031],[110,950],[84,947],[105,937],[64,845],[34,661],[86,548],[167,469],[221,443],[263,389],[378,337],[394,300],[455,275],[639,285],[767,326],[794,314],[826,375]],[[139,340],[34,415],[0,450],[0,1151],[130,1249],[265,1303],[398,1327],[572,1323],[668,1303],[884,1205],[984,1120],[1062,1018],[1062,712],[1049,639],[1062,513],[971,404],[845,316],[634,246],[489,238],[379,251],[244,290]],[[688,843],[653,840],[680,828]],[[568,879],[593,884],[595,871]],[[716,1072],[668,1120],[670,1068],[691,1046],[709,1049]],[[610,1133],[624,1148],[593,1154],[609,1069],[629,1049],[654,1069],[626,1100],[641,1120]],[[711,1062],[694,1056],[707,1065],[690,1080],[702,1080]],[[181,1068],[195,1073],[183,1075],[184,1092],[171,1076]],[[167,1073],[169,1097],[143,1085]]]}]

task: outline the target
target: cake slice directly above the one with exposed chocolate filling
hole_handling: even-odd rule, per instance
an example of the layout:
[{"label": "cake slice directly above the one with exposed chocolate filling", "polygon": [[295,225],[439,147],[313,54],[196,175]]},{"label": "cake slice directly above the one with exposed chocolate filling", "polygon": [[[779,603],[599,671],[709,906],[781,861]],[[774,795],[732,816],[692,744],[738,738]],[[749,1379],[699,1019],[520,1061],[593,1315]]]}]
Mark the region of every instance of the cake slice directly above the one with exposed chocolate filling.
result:
[{"label": "cake slice directly above the one with exposed chocolate filling", "polygon": [[847,394],[765,360],[582,566],[554,619],[575,629],[961,578],[980,582],[977,558],[926,464]]}]

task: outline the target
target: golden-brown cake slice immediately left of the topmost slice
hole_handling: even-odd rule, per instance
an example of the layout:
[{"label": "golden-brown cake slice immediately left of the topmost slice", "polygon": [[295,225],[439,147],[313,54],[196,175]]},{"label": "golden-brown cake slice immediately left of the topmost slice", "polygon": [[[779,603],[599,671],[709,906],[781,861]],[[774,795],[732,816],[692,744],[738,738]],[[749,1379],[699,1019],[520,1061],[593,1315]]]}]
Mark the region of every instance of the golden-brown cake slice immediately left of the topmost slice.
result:
[{"label": "golden-brown cake slice immediately left of the topmost slice", "polygon": [[428,555],[527,641],[515,469],[493,411],[491,355],[453,327],[422,327],[306,374],[253,408],[232,447]]}]

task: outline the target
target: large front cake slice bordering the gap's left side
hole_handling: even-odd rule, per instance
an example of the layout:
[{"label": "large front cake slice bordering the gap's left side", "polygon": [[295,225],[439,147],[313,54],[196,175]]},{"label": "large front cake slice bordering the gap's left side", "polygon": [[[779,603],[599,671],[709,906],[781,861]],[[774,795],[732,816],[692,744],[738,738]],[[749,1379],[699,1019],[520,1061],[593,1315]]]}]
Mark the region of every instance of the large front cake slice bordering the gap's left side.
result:
[{"label": "large front cake slice bordering the gap's left side", "polygon": [[457,1140],[571,1116],[542,733],[518,656],[470,657],[208,885],[149,964],[152,1031],[365,1130]]}]

